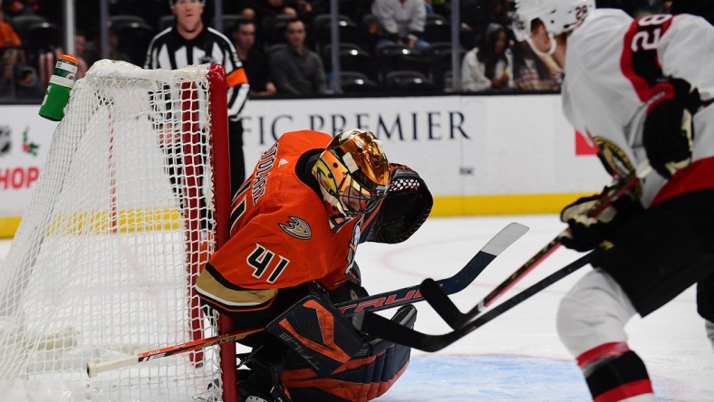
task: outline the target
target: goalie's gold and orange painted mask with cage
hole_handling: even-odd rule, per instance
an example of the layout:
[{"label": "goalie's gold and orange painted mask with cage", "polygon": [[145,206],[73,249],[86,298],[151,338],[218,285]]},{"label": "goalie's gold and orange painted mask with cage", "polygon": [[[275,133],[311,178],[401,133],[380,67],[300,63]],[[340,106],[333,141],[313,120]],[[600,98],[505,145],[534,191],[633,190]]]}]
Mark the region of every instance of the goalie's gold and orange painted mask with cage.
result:
[{"label": "goalie's gold and orange painted mask with cage", "polygon": [[390,186],[390,166],[381,142],[361,129],[343,131],[330,141],[315,162],[313,175],[335,232],[373,210]]}]

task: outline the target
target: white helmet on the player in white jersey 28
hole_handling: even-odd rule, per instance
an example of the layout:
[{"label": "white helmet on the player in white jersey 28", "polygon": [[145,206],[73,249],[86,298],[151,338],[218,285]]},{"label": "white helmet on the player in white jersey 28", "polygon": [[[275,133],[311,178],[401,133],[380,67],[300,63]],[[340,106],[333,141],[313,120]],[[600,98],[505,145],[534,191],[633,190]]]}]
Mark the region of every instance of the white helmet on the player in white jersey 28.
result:
[{"label": "white helmet on the player in white jersey 28", "polygon": [[513,29],[516,38],[525,38],[536,53],[543,54],[530,41],[533,21],[539,19],[551,42],[545,54],[553,54],[555,35],[573,30],[594,8],[595,0],[516,0]]}]

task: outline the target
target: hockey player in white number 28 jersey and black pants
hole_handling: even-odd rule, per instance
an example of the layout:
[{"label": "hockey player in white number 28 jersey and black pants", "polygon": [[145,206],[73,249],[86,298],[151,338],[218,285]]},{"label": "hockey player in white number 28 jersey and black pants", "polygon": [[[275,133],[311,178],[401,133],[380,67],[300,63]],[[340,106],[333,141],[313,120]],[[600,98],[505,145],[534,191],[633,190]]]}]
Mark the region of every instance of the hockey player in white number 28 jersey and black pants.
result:
[{"label": "hockey player in white number 28 jersey and black pants", "polygon": [[714,345],[714,27],[688,14],[632,19],[594,0],[516,0],[516,15],[518,34],[564,69],[564,115],[605,168],[624,177],[649,159],[657,172],[598,219],[586,214],[599,196],[564,207],[561,243],[594,250],[594,269],[557,313],[594,400],[654,401],[623,330],[634,314],[698,283]]}]

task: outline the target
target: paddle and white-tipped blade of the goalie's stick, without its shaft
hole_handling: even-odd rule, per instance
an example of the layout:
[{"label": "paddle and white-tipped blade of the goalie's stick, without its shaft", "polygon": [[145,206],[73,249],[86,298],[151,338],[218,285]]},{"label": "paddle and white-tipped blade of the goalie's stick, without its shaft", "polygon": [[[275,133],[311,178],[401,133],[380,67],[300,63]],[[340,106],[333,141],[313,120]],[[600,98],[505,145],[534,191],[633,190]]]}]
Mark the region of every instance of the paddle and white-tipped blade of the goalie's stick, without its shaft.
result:
[{"label": "paddle and white-tipped blade of the goalie's stick, without its shaft", "polygon": [[[527,231],[528,227],[526,225],[515,222],[508,224],[491,238],[458,273],[436,282],[441,286],[441,290],[447,294],[463,291],[471,282],[474,282],[478,274],[483,272],[498,254],[501,254],[509,245],[516,242],[522,235],[525,235]],[[351,302],[336,304],[335,307],[349,317],[359,311],[380,311],[403,304],[420,302],[421,300],[420,285],[414,285],[395,291],[371,294]]]}]

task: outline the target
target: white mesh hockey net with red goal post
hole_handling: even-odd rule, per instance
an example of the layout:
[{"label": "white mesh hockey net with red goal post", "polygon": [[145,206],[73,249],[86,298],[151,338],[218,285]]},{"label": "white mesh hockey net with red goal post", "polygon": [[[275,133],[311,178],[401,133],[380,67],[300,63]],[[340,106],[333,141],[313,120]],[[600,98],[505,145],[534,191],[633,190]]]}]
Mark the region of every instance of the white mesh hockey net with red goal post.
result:
[{"label": "white mesh hockey net with red goal post", "polygon": [[220,333],[192,285],[226,238],[226,114],[217,65],[76,82],[0,272],[0,399],[230,399],[232,345],[85,369]]}]

